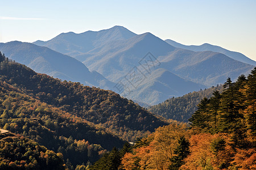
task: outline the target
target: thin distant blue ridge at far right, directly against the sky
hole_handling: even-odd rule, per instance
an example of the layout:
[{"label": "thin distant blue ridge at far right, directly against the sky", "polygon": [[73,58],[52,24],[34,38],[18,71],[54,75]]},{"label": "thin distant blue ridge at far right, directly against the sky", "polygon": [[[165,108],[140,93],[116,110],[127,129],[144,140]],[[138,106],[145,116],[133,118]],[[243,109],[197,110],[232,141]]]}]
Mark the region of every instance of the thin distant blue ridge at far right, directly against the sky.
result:
[{"label": "thin distant blue ridge at far right, directly against the sky", "polygon": [[194,52],[205,52],[205,51],[218,52],[218,53],[225,54],[226,56],[228,56],[230,58],[236,59],[237,61],[241,61],[241,62],[247,63],[249,65],[256,66],[256,61],[254,61],[253,59],[250,59],[241,53],[232,52],[230,50],[224,49],[217,45],[211,45],[208,43],[205,43],[202,45],[183,45],[183,44],[180,44],[179,42],[175,42],[170,39],[167,39],[165,41],[168,44],[175,46],[176,48],[192,50]]}]

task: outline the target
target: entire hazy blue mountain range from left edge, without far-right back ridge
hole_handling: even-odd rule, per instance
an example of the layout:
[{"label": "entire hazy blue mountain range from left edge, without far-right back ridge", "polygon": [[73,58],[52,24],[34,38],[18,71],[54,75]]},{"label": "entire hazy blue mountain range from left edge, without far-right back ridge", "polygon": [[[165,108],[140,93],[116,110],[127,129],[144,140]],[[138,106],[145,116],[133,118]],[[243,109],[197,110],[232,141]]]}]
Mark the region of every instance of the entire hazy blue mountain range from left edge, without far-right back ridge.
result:
[{"label": "entire hazy blue mountain range from left edge, without far-right back ridge", "polygon": [[[25,43],[27,48],[18,46],[14,51],[9,46],[18,42],[9,43],[0,44],[0,50],[39,73],[113,90],[143,105],[216,86],[228,77],[248,74],[254,67],[222,53],[176,48],[151,33],[137,35],[121,26],[61,33],[49,41],[36,41],[35,45]],[[26,49],[30,52],[24,52]],[[14,52],[20,56],[26,53],[26,59],[16,59]],[[49,59],[55,55],[59,58]],[[70,62],[61,58],[69,58]]]}]

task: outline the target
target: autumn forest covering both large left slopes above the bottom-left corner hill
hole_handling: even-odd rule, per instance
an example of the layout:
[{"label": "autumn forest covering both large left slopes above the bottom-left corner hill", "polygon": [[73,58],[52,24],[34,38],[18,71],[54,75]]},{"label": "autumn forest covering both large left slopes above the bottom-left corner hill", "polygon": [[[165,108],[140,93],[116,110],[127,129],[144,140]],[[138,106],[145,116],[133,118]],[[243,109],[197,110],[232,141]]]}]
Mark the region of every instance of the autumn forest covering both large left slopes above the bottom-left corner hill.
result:
[{"label": "autumn forest covering both large left slopes above the bottom-left corner hill", "polygon": [[168,125],[112,91],[37,74],[0,53],[0,127],[86,167],[115,146]]}]

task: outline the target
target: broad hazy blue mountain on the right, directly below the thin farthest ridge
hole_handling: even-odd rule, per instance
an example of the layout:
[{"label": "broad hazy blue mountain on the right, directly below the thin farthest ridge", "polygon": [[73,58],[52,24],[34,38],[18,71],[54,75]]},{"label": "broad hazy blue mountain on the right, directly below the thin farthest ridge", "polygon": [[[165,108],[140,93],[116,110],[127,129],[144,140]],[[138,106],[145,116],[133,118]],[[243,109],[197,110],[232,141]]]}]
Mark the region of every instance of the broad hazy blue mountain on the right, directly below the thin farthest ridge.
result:
[{"label": "broad hazy blue mountain on the right, directly below the thin farthest ridge", "polygon": [[210,51],[176,49],[167,56],[160,56],[158,60],[162,63],[162,68],[208,87],[223,83],[228,77],[236,80],[238,75],[247,75],[254,68],[224,54]]}]

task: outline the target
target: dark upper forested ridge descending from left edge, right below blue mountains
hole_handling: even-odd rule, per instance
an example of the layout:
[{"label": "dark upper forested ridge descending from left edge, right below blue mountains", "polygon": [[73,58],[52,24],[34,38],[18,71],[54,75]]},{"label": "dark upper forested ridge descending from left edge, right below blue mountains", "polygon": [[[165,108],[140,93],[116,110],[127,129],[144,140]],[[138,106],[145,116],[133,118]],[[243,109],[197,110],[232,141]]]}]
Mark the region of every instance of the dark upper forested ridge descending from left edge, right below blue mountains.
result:
[{"label": "dark upper forested ridge descending from left edge, right below blue mountains", "polygon": [[167,125],[154,114],[112,91],[61,82],[46,74],[37,74],[28,67],[5,61],[1,63],[1,81],[27,95],[59,107],[86,121],[103,126],[127,141],[143,137],[159,126]]}]

